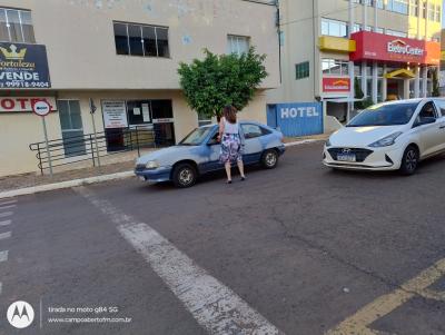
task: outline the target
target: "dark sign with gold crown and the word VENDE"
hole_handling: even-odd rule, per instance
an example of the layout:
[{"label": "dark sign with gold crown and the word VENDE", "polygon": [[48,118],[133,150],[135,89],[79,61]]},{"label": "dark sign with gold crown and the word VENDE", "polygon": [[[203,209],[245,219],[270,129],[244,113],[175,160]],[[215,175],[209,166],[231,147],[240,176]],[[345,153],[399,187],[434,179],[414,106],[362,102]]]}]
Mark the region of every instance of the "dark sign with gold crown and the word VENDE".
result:
[{"label": "dark sign with gold crown and the word VENDE", "polygon": [[50,88],[47,48],[0,42],[0,88]]}]

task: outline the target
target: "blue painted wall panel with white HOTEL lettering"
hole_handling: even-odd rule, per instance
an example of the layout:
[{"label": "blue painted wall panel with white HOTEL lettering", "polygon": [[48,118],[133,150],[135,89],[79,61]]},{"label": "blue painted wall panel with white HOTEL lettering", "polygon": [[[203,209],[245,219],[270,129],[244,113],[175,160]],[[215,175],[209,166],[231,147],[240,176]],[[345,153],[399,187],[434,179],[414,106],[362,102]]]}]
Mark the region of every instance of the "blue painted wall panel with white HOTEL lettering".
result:
[{"label": "blue painted wall panel with white HOTEL lettering", "polygon": [[267,124],[285,136],[323,134],[320,102],[268,105]]}]

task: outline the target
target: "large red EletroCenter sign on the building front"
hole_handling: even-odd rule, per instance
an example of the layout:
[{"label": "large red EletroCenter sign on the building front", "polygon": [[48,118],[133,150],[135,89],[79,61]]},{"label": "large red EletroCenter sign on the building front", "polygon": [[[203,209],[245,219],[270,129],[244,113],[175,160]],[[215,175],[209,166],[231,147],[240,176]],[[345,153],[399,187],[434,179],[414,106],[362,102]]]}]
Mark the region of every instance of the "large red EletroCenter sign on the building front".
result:
[{"label": "large red EletroCenter sign on the building front", "polygon": [[438,65],[441,62],[441,45],[438,42],[370,31],[353,33],[352,39],[356,41],[356,51],[349,55],[349,59],[353,61],[366,59],[421,65]]}]

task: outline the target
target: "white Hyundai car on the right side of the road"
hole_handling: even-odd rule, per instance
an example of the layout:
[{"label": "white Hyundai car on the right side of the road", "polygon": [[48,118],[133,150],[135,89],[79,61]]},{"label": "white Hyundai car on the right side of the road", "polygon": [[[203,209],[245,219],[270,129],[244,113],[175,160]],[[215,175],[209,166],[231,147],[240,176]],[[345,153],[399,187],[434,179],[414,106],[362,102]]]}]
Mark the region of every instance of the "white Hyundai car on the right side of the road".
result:
[{"label": "white Hyundai car on the right side of the road", "polygon": [[334,169],[412,175],[421,160],[441,152],[445,152],[445,99],[411,99],[358,114],[326,141],[323,162]]}]

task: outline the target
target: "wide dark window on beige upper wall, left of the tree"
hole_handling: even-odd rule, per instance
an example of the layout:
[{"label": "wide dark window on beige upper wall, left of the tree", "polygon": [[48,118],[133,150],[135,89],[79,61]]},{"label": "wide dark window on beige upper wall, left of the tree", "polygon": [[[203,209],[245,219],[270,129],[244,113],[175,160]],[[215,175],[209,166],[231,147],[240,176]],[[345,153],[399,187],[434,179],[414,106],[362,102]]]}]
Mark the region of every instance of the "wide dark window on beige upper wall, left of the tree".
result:
[{"label": "wide dark window on beige upper wall, left of the tree", "polygon": [[169,58],[168,28],[115,22],[117,55]]}]

